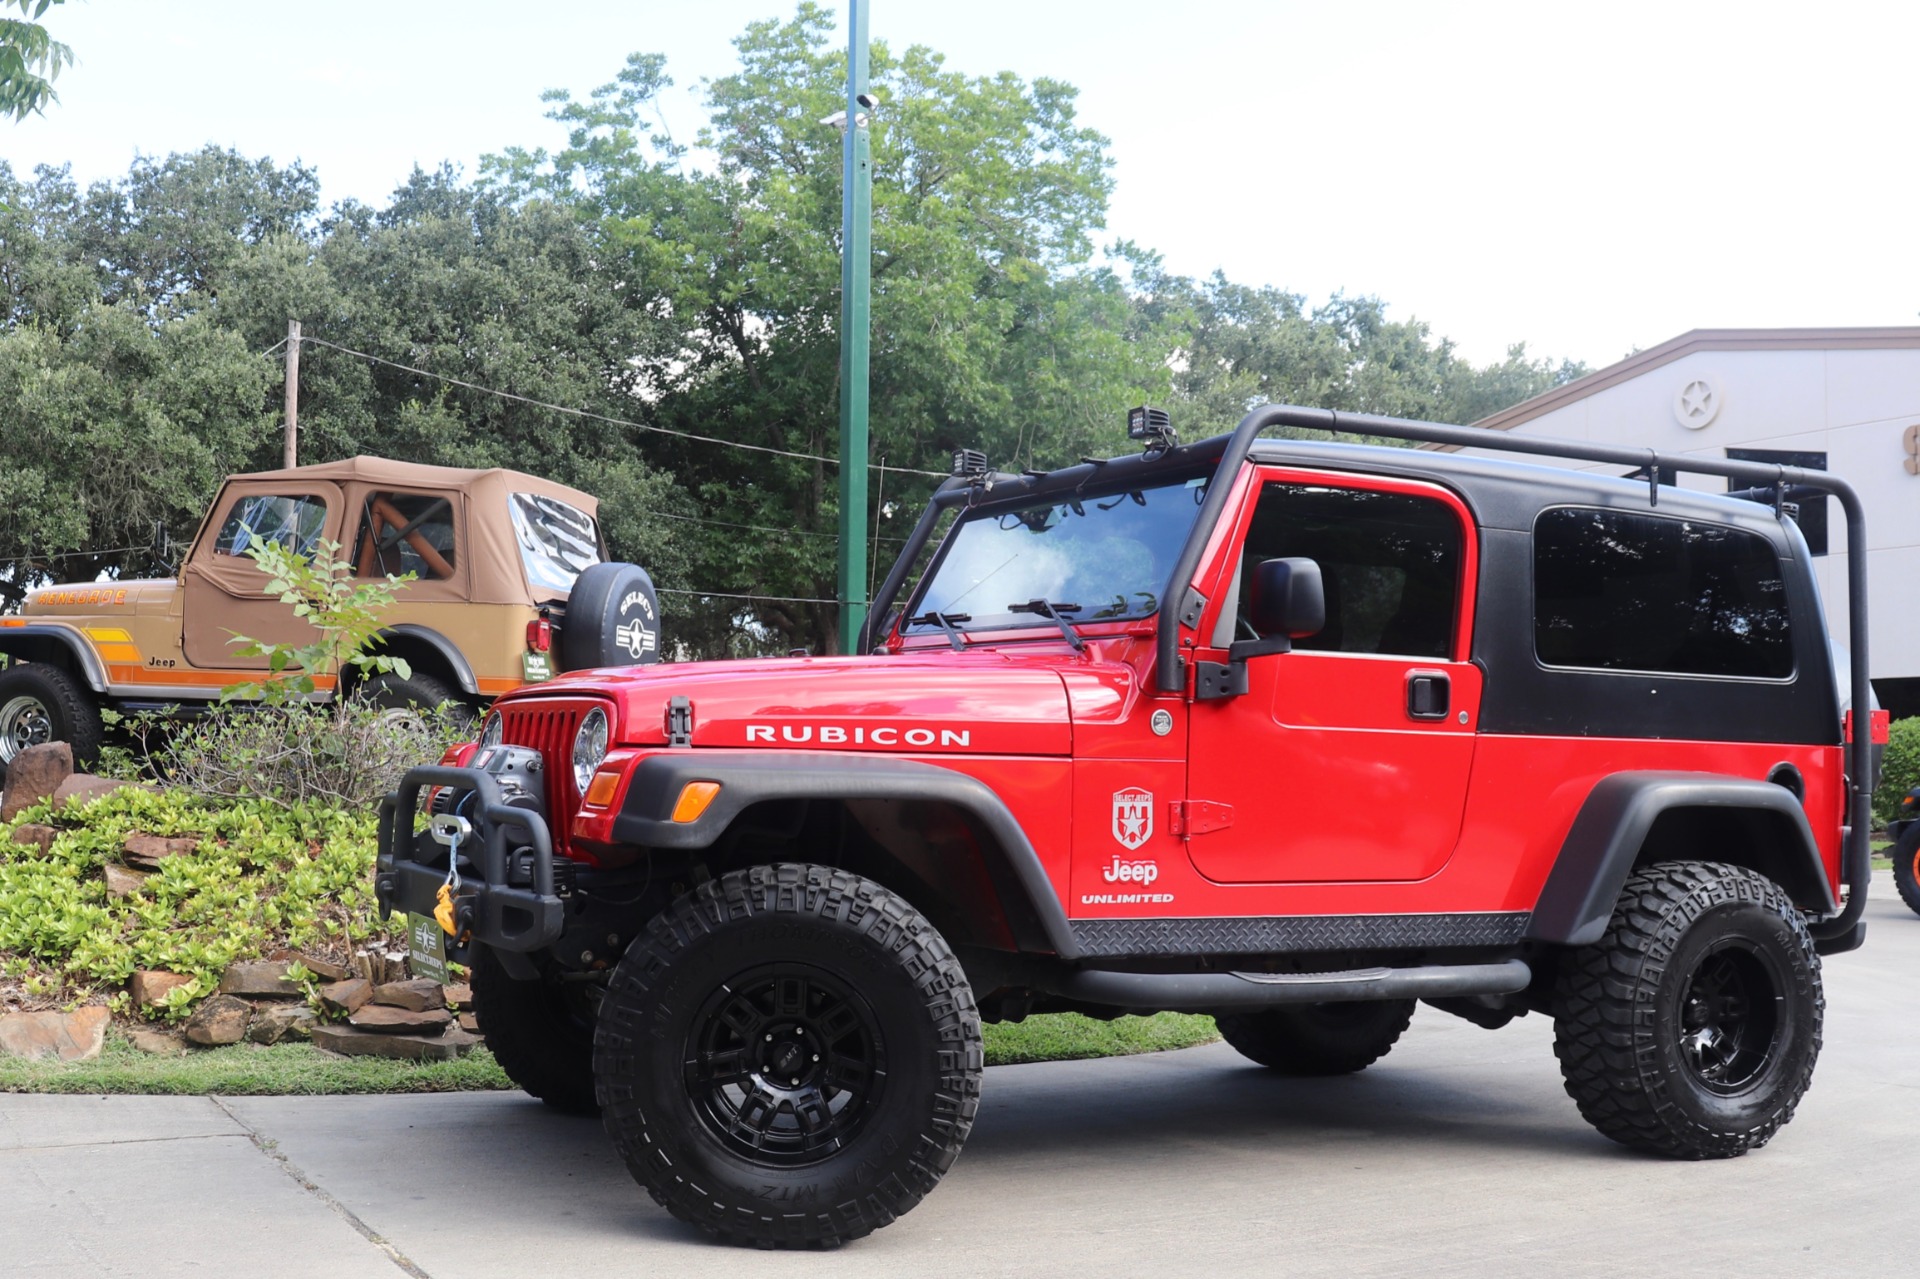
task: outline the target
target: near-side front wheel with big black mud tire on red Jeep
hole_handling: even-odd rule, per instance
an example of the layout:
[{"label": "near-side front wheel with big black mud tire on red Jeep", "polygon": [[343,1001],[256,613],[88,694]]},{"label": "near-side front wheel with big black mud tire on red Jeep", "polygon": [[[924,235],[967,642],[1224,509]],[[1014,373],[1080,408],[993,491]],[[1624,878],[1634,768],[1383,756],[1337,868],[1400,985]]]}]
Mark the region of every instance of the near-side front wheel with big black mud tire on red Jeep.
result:
[{"label": "near-side front wheel with big black mud tire on red Jeep", "polygon": [[872,880],[799,864],[732,872],[655,916],[593,1049],[634,1179],[762,1248],[839,1244],[918,1204],[973,1127],[981,1064],[941,933]]}]

